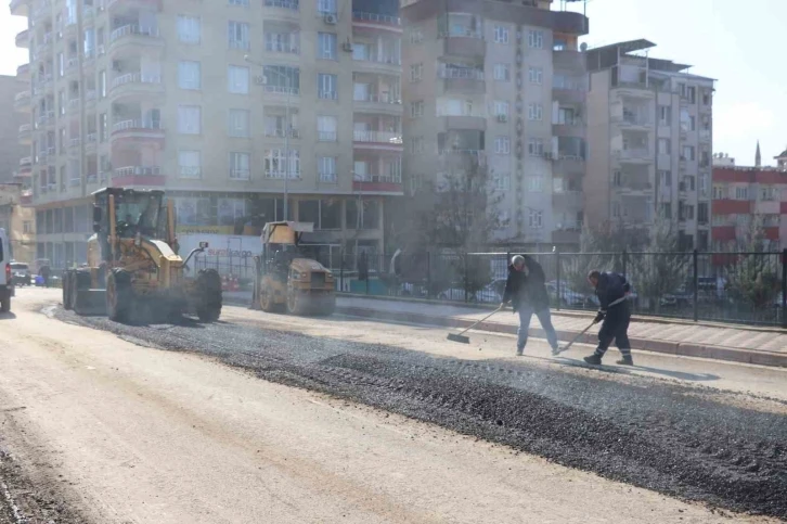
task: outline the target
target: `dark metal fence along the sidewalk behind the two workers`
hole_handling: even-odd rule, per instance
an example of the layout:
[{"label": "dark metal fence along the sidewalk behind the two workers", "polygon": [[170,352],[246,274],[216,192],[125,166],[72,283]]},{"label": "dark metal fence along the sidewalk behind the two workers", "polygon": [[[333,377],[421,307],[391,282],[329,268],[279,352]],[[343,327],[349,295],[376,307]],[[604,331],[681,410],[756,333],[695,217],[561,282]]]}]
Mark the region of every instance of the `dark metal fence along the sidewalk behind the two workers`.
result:
[{"label": "dark metal fence along the sidewalk behind the two workers", "polygon": [[[555,309],[595,310],[593,269],[632,285],[636,315],[787,328],[787,250],[782,253],[531,253]],[[512,253],[339,254],[337,289],[447,303],[500,304]],[[337,266],[338,265],[338,266]]]}]

